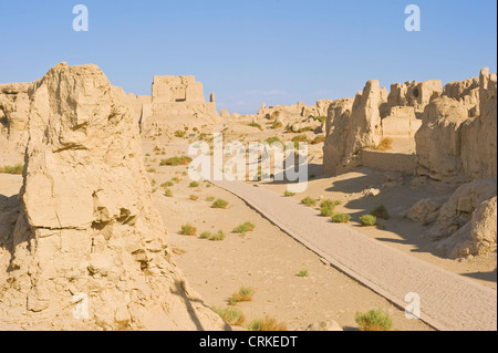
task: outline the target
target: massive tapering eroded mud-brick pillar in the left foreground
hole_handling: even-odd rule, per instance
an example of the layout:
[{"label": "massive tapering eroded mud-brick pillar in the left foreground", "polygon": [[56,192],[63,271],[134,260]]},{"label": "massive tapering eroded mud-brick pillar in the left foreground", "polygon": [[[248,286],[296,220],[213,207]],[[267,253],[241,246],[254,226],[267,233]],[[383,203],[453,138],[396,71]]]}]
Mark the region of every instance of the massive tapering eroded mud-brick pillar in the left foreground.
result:
[{"label": "massive tapering eroded mud-brick pillar in the left foreground", "polygon": [[[95,65],[63,63],[29,96],[0,329],[224,328],[170,260],[125,93]],[[87,320],[74,314],[75,299]]]}]

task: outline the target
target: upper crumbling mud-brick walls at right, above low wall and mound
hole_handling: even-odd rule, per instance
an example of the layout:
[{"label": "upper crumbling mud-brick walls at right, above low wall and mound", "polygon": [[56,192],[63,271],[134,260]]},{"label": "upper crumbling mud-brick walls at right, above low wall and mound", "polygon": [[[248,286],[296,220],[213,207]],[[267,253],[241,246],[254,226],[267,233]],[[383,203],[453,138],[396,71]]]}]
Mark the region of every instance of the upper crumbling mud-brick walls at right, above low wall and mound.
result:
[{"label": "upper crumbling mud-brick walls at right, above low wall and mound", "polygon": [[[393,84],[387,97],[372,82],[354,101],[330,105],[323,167],[343,173],[382,137],[414,139],[418,174],[435,179],[496,176],[496,74]],[[375,128],[373,128],[375,127]]]}]

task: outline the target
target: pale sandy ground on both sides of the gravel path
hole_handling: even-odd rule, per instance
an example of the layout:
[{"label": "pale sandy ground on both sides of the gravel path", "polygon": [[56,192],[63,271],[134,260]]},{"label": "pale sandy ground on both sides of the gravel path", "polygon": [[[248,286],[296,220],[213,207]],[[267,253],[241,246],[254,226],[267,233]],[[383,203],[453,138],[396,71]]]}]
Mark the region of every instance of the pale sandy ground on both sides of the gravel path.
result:
[{"label": "pale sandy ground on both sides of the gravel path", "polygon": [[[246,122],[218,125],[209,132],[212,131],[225,131],[226,141],[238,139],[243,144],[271,136],[286,142],[297,135],[268,128],[260,132],[248,128]],[[307,134],[310,139],[315,136],[313,133]],[[226,307],[229,297],[246,285],[256,289],[252,302],[238,304],[248,321],[268,314],[295,330],[315,321],[332,319],[346,329],[354,329],[357,328],[354,322],[356,311],[385,308],[392,313],[397,330],[430,330],[422,322],[406,320],[403,311],[324,264],[319,256],[291,239],[239,198],[216,186],[208,187],[207,183],[190,188],[188,176],[183,175],[185,166],[159,166],[162,158],[183,155],[189,142],[193,138],[160,136],[156,141],[144,142],[144,150],[149,155],[146,157],[147,166],[155,169],[149,174],[156,181],[155,200],[169,230],[170,243],[176,248],[178,264],[210,305]],[[395,141],[396,146],[404,153],[413,152],[411,143]],[[154,150],[155,147],[160,150]],[[352,215],[350,227],[424,261],[496,289],[496,255],[465,260],[444,259],[430,252],[429,240],[423,236],[427,227],[403,217],[421,198],[435,195],[449,197],[456,186],[369,168],[359,168],[339,177],[325,176],[321,172],[322,147],[323,144],[310,146],[309,174],[312,178],[307,191],[295,195],[295,199],[307,196],[339,199],[342,205],[338,206],[338,211]],[[183,180],[169,187],[174,196],[164,196],[158,186],[178,176]],[[283,194],[287,188],[283,183],[258,184],[279,194]],[[377,188],[380,194],[365,196],[364,190],[370,188]],[[198,195],[199,199],[190,200],[193,194]],[[211,209],[211,201],[207,201],[207,197],[226,199],[230,206],[225,210]],[[390,210],[391,219],[383,220],[382,228],[360,227],[359,217],[381,204]],[[246,236],[230,233],[231,229],[245,221],[253,222],[256,230]],[[179,230],[187,222],[197,227],[197,235],[222,229],[227,238],[215,242],[183,236]],[[199,271],[199,268],[205,270]],[[308,269],[310,276],[299,277],[302,269]]]}]

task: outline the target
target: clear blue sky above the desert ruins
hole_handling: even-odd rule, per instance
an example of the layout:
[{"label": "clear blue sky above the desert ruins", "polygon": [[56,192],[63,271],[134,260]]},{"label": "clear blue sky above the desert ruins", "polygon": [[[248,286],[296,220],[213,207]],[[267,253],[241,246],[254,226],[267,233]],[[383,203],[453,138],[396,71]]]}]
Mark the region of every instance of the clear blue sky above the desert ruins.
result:
[{"label": "clear blue sky above the desert ruins", "polygon": [[[79,3],[89,32],[72,29]],[[405,31],[411,3],[421,32]],[[496,12],[495,0],[2,0],[0,82],[94,63],[149,95],[153,75],[195,75],[218,108],[256,113],[262,102],[354,96],[373,79],[390,87],[496,72]]]}]

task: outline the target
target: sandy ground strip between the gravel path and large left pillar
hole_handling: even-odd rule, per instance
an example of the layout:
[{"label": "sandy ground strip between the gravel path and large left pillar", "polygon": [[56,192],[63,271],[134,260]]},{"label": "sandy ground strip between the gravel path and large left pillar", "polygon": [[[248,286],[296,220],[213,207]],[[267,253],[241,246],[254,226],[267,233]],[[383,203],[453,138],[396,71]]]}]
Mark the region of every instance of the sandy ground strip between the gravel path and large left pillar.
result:
[{"label": "sandy ground strip between the gravel path and large left pillar", "polygon": [[[149,154],[147,166],[155,169],[149,176],[155,185],[156,207],[169,231],[178,266],[209,305],[227,307],[231,294],[243,285],[256,291],[251,302],[237,304],[247,321],[270,315],[286,322],[290,330],[301,330],[317,321],[335,320],[346,330],[355,330],[356,311],[382,308],[392,314],[395,330],[432,330],[421,321],[407,320],[404,311],[323,263],[319,256],[230,193],[207,181],[189,187],[190,179],[183,175],[185,166],[159,166],[162,158],[181,155],[181,142],[160,145],[165,150],[154,152],[157,145],[144,143]],[[168,187],[173,197],[166,197],[160,185],[173,178],[181,180]],[[198,196],[198,200],[191,200],[190,195]],[[208,197],[225,199],[229,207],[212,209]],[[246,236],[231,232],[246,221],[256,225],[253,232]],[[180,233],[185,224],[197,228],[197,237]],[[227,233],[224,241],[198,237],[203,231],[220,229]],[[298,276],[303,269],[309,277]]]}]

